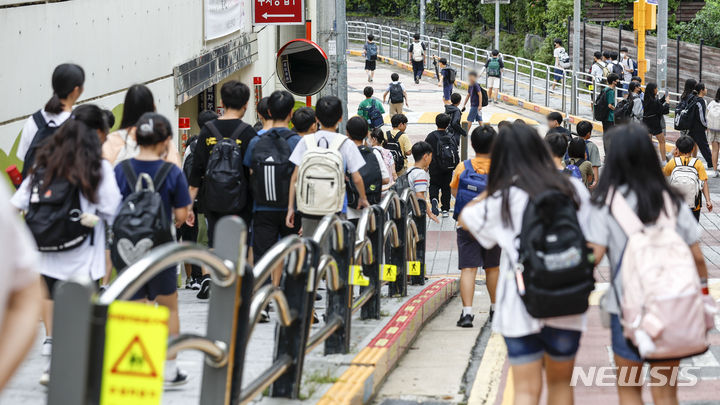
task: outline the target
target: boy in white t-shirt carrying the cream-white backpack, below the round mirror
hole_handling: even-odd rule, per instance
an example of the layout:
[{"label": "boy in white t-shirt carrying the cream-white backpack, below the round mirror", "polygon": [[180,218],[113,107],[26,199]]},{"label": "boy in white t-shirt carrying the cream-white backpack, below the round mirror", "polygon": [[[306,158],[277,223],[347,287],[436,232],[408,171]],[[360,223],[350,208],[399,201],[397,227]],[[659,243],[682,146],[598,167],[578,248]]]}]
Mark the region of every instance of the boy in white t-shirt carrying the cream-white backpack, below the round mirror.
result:
[{"label": "boy in white t-shirt carrying the cream-white backpack, below the round mirror", "polygon": [[[290,162],[295,165],[295,171],[293,171],[292,179],[290,181],[290,196],[296,195],[297,190],[295,185],[298,179],[298,169],[303,162],[303,157],[308,151],[308,142],[315,142],[318,147],[329,148],[334,142],[342,142],[339,147],[340,154],[342,155],[343,165],[345,166],[345,172],[349,173],[350,179],[355,184],[355,187],[360,194],[358,201],[358,208],[362,209],[370,206],[365,195],[365,184],[360,176],[360,169],[365,165],[365,160],[358,148],[353,145],[346,137],[337,133],[337,128],[343,119],[343,107],[342,102],[339,98],[334,96],[322,97],[318,100],[315,106],[315,114],[320,122],[320,130],[314,135],[306,136],[303,138],[303,142],[297,144],[292,154],[290,155]],[[347,212],[347,198],[343,204],[342,213]],[[302,212],[301,212],[302,214]],[[305,236],[310,236],[315,233],[321,218],[310,217],[308,215],[302,216],[302,233]],[[285,218],[285,224],[288,228],[295,227],[295,199],[290,198],[288,200],[288,211],[287,217]]]}]

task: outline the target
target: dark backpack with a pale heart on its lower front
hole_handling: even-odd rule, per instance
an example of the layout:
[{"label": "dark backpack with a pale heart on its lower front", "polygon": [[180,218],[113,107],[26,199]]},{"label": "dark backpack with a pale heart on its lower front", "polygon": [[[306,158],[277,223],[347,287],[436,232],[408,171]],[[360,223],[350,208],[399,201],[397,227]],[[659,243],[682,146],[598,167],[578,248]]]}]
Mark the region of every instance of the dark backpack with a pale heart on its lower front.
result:
[{"label": "dark backpack with a pale heart on its lower front", "polygon": [[173,164],[163,162],[154,178],[147,173],[138,176],[129,159],[120,162],[120,168],[135,191],[122,202],[113,222],[110,259],[116,269],[124,269],[150,249],[173,241],[172,224],[159,192]]}]

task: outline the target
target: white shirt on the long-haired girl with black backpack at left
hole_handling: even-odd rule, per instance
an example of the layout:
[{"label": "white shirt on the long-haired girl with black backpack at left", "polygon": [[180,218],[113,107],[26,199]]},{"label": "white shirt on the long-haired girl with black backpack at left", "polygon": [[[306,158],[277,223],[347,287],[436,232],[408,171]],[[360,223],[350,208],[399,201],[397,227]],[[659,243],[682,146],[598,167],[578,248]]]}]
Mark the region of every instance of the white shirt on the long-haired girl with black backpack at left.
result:
[{"label": "white shirt on the long-haired girl with black backpack at left", "polygon": [[[27,211],[30,207],[32,177],[29,176],[23,181],[10,200],[10,203],[21,211]],[[65,252],[41,252],[40,273],[58,280],[67,280],[73,275],[88,276],[93,280],[102,278],[105,275],[105,222],[112,225],[121,201],[122,195],[115,182],[112,165],[103,160],[97,203],[91,203],[80,193],[82,211],[95,214],[102,221],[98,221],[94,232],[79,247]]]}]

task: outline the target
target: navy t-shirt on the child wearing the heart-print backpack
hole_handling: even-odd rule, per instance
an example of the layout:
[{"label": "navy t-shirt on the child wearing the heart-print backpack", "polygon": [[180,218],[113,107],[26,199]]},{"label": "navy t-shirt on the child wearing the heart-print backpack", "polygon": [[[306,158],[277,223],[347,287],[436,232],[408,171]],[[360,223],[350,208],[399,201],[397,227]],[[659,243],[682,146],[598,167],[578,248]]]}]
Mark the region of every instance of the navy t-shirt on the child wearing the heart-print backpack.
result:
[{"label": "navy t-shirt on the child wearing the heart-print backpack", "polygon": [[[155,173],[160,169],[163,162],[163,160],[130,159],[130,164],[138,176],[140,176],[140,173],[147,173],[150,177],[155,177]],[[160,193],[160,197],[162,197],[163,203],[165,203],[165,215],[168,220],[172,219],[172,210],[174,208],[187,207],[192,203],[185,175],[179,167],[175,165],[172,166],[160,190],[155,190]],[[115,180],[118,183],[123,198],[126,198],[135,191],[135,185],[129,184],[120,164],[115,166]]]}]

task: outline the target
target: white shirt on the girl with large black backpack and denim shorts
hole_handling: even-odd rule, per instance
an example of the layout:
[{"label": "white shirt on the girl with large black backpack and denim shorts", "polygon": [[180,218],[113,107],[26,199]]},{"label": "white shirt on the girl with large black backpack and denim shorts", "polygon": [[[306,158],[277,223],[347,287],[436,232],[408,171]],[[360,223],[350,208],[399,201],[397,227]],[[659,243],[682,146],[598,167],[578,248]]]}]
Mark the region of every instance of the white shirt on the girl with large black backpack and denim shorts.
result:
[{"label": "white shirt on the girl with large black backpack and denim shorts", "polygon": [[[590,194],[577,179],[571,179],[571,183],[581,201],[578,222],[586,232],[590,213]],[[584,330],[585,314],[545,319],[533,318],[528,314],[515,281],[515,267],[519,257],[516,240],[522,228],[528,194],[520,188],[512,187],[509,199],[510,217],[512,218],[510,227],[505,226],[502,221],[500,192],[473,206],[464,208],[460,215],[468,231],[484,248],[491,249],[500,246],[503,251],[500,258],[493,331],[505,337],[522,337],[539,333],[544,326],[566,330]]]}]

